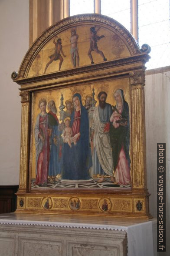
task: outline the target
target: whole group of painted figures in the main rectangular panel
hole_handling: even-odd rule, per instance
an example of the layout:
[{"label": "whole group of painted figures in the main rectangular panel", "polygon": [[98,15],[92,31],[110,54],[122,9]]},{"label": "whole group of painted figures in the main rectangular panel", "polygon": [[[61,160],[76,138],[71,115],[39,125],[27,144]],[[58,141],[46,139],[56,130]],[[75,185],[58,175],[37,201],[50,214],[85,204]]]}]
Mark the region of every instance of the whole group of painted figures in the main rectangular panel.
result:
[{"label": "whole group of painted figures in the main rectangular panel", "polygon": [[[39,186],[65,181],[90,181],[105,175],[116,184],[131,184],[129,108],[121,89],[114,92],[115,106],[106,103],[107,93],[98,94],[99,104],[92,107],[88,95],[85,106],[80,94],[66,101],[64,122],[59,124],[54,101],[39,100],[40,114],[35,124],[36,181]],[[71,108],[73,103],[74,108]],[[92,170],[92,172],[90,172]]]}]

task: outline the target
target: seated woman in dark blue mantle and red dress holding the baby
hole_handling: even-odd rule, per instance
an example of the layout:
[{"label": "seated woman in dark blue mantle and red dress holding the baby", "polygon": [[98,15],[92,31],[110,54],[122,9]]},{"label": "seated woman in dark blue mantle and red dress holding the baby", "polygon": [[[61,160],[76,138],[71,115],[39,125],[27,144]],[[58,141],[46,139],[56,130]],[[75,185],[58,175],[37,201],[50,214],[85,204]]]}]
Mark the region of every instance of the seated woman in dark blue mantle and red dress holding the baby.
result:
[{"label": "seated woman in dark blue mantle and red dress holding the baby", "polygon": [[71,115],[72,147],[64,143],[62,182],[65,180],[92,180],[89,168],[92,166],[92,157],[89,147],[88,112],[82,105],[80,94],[73,96],[74,111]]}]

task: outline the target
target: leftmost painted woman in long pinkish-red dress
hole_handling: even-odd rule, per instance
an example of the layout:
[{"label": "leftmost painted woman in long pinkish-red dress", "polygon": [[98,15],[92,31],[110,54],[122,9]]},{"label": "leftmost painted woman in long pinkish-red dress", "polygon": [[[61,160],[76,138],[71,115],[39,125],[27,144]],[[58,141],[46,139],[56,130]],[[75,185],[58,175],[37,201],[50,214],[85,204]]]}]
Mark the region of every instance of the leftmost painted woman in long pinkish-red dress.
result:
[{"label": "leftmost painted woman in long pinkish-red dress", "polygon": [[36,118],[35,145],[36,145],[36,181],[39,186],[47,185],[49,170],[49,137],[52,129],[49,127],[49,118],[46,112],[46,99],[39,100],[41,113]]}]

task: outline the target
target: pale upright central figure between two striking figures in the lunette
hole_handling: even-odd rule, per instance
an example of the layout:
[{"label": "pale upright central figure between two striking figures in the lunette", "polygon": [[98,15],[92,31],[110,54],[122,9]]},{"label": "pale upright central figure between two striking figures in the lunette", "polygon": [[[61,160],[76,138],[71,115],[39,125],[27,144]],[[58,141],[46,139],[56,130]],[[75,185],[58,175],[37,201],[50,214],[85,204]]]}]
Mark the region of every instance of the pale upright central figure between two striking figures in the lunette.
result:
[{"label": "pale upright central figure between two striking figures in the lunette", "polygon": [[77,47],[78,34],[76,33],[75,27],[71,29],[70,43],[71,43],[70,54],[71,54],[72,65],[73,67],[79,67],[79,55],[78,55],[78,47]]}]

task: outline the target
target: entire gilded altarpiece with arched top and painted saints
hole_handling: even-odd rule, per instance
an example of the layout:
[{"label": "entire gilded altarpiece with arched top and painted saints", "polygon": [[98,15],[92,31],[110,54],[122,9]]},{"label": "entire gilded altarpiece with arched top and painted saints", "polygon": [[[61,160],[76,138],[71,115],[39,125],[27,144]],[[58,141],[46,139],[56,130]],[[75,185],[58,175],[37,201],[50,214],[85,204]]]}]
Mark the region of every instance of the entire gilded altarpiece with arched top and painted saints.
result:
[{"label": "entire gilded altarpiece with arched top and painted saints", "polygon": [[66,18],[30,47],[16,212],[151,218],[146,187],[145,66],[118,22]]}]

